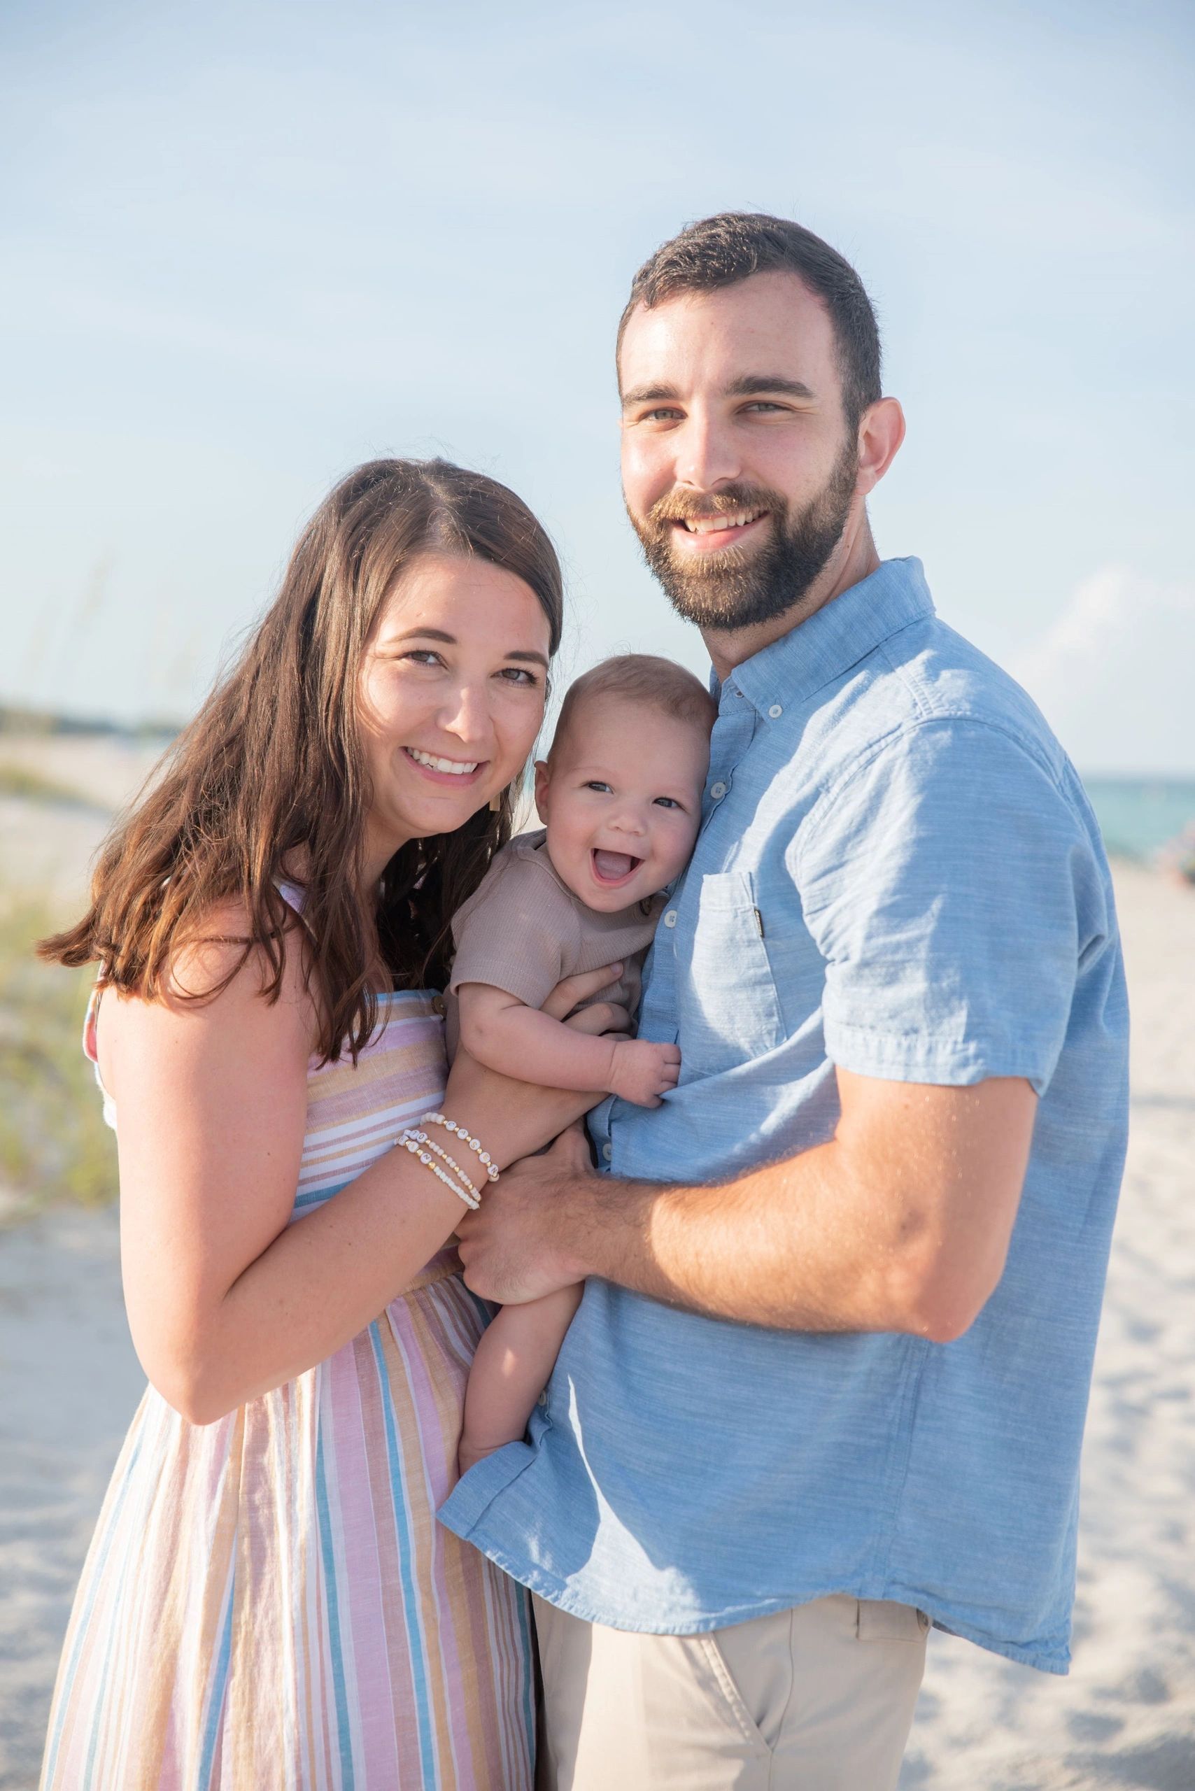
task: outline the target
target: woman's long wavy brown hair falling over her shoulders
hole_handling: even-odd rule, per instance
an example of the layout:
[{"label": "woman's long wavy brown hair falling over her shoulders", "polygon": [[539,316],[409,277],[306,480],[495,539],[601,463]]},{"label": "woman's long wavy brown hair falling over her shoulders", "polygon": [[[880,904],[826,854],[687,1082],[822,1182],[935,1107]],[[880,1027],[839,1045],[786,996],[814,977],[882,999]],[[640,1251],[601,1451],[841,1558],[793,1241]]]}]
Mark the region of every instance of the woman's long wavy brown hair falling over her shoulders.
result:
[{"label": "woman's long wavy brown hair falling over her shoulders", "polygon": [[[527,505],[448,460],[371,460],[321,503],[281,591],[233,670],[179,734],[149,793],[109,835],[77,926],[41,942],[56,964],[100,964],[106,987],[159,999],[181,949],[210,937],[211,913],[244,906],[244,956],[281,990],[290,910],[278,894],[288,854],[303,861],[308,987],[319,1053],[360,1051],[376,1024],[374,942],[360,908],[371,801],[357,720],[369,630],[419,553],[477,555],[523,578],[561,641],[561,568]],[[376,938],[396,987],[446,980],[451,915],[511,836],[514,790],[455,833],[410,840],[382,876]],[[292,856],[294,863],[294,856]]]}]

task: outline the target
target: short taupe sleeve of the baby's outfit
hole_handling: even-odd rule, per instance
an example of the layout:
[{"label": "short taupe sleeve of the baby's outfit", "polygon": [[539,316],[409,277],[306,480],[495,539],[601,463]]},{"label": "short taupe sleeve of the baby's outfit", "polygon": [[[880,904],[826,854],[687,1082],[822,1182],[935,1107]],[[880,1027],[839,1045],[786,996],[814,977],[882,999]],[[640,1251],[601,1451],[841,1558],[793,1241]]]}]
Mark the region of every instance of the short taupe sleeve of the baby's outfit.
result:
[{"label": "short taupe sleeve of the baby's outfit", "polygon": [[539,865],[503,860],[453,922],[457,955],[450,989],[489,983],[527,1007],[543,1007],[564,976],[577,915]]}]

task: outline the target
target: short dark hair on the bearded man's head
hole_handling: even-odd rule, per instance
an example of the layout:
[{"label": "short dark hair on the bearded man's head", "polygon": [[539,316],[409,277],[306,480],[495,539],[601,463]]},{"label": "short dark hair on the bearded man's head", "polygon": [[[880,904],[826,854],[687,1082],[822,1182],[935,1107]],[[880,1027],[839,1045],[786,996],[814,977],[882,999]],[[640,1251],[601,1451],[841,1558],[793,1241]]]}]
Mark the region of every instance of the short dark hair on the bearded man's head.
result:
[{"label": "short dark hair on the bearded man's head", "polygon": [[842,408],[855,428],[881,392],[876,313],[846,256],[788,219],[765,211],[720,211],[686,224],[679,236],[656,249],[631,281],[618,347],[636,304],[650,312],[677,292],[713,292],[776,270],[795,274],[830,312],[838,346]]}]

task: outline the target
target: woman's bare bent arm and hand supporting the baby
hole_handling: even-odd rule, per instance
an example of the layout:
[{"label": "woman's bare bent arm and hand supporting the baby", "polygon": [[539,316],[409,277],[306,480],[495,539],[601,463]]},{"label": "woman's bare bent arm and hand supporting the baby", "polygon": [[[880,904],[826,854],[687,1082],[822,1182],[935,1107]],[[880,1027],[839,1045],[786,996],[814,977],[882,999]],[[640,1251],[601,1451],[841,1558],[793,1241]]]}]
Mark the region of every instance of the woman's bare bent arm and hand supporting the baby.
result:
[{"label": "woman's bare bent arm and hand supporting the baby", "polygon": [[[183,983],[219,976],[222,949],[183,965]],[[272,1007],[260,998],[251,960],[204,1005],[109,996],[100,1014],[102,1073],[120,1114],[129,1325],[149,1379],[193,1424],[331,1356],[466,1213],[396,1148],[288,1223],[314,1037],[297,958],[288,955]],[[609,980],[607,971],[573,978],[564,999],[584,999]],[[459,1053],[444,1112],[505,1164],[595,1100],[509,1082]]]}]

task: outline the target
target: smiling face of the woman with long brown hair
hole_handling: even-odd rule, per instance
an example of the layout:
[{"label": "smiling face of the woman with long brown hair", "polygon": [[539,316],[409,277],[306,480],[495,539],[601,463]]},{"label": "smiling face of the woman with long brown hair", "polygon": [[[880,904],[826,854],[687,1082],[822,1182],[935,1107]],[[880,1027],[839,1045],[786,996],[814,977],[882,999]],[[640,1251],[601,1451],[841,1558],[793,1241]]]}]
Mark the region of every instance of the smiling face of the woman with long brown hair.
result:
[{"label": "smiling face of the woman with long brown hair", "polygon": [[546,673],[548,618],[530,586],[484,559],[412,561],[360,670],[369,883],[407,840],[451,833],[521,772]]}]

